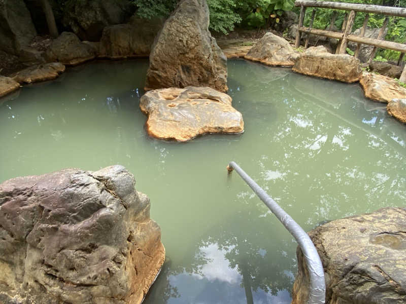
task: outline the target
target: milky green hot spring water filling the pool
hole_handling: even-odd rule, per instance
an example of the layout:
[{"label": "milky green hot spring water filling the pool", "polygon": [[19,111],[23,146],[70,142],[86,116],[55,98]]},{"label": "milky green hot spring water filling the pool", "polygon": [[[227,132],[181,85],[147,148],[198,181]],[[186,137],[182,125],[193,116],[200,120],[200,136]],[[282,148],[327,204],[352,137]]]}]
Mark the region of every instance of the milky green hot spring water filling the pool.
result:
[{"label": "milky green hot spring water filling the pool", "polygon": [[148,137],[147,60],[98,62],[0,99],[0,182],[122,164],[151,199],[167,261],[145,303],[290,303],[296,243],[226,165],[236,161],[302,227],[404,206],[406,126],[359,85],[228,62],[245,133]]}]

